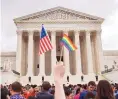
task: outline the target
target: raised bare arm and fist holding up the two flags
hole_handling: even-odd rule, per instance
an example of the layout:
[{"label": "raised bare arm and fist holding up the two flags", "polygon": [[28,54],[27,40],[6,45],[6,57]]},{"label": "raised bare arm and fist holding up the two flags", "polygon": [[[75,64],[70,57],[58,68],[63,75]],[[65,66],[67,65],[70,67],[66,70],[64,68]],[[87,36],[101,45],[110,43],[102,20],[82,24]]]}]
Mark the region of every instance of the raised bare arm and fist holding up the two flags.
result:
[{"label": "raised bare arm and fist holding up the two flags", "polygon": [[65,68],[63,65],[56,65],[54,68],[54,80],[55,80],[55,99],[66,99],[63,89],[63,76]]}]

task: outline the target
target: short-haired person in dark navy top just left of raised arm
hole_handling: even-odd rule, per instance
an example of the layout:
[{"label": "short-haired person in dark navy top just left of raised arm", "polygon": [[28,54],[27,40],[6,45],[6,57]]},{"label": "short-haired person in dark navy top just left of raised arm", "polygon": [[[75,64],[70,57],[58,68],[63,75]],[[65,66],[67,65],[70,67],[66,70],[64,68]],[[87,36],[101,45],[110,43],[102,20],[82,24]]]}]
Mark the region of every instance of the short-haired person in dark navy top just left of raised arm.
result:
[{"label": "short-haired person in dark navy top just left of raised arm", "polygon": [[44,81],[42,84],[42,91],[36,95],[36,99],[54,99],[54,96],[49,93],[50,83]]}]

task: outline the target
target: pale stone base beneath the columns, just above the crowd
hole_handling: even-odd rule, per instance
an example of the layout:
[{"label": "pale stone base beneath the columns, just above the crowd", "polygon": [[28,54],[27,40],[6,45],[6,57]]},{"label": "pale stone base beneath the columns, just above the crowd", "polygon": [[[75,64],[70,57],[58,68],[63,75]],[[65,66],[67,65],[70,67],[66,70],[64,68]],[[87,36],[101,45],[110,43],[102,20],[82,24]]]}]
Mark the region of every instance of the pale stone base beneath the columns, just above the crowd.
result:
[{"label": "pale stone base beneath the columns, just above the crowd", "polygon": [[[67,80],[67,76],[69,76],[69,81]],[[82,77],[83,76],[83,80]],[[101,75],[98,75],[98,81],[96,81],[96,75],[94,73],[89,73],[88,75],[64,75],[63,78],[63,83],[64,84],[87,84],[89,81],[95,81],[96,83],[98,83],[99,80],[103,79],[103,77]],[[29,76],[21,76],[19,81],[23,84],[37,84],[37,85],[41,85],[42,84],[42,80],[44,81],[49,81],[50,84],[54,84],[54,76],[43,76],[44,79],[42,79],[42,75],[39,76],[30,76],[31,77],[31,81],[29,81]]]}]

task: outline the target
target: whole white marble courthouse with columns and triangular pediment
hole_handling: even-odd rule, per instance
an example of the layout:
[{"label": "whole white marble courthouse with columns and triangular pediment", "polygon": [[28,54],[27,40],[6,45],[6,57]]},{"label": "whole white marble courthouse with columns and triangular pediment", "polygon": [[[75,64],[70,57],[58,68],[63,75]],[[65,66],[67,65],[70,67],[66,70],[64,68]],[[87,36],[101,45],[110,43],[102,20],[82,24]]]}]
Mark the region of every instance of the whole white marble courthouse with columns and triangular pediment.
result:
[{"label": "whole white marble courthouse with columns and triangular pediment", "polygon": [[[22,83],[51,83],[53,67],[60,59],[60,39],[66,33],[78,47],[76,51],[63,51],[62,62],[66,72],[64,81],[81,83],[102,79],[103,50],[101,24],[103,18],[63,7],[55,7],[14,19],[17,26],[16,71]],[[53,49],[39,56],[41,26],[44,24]],[[82,81],[83,79],[83,81]]]}]

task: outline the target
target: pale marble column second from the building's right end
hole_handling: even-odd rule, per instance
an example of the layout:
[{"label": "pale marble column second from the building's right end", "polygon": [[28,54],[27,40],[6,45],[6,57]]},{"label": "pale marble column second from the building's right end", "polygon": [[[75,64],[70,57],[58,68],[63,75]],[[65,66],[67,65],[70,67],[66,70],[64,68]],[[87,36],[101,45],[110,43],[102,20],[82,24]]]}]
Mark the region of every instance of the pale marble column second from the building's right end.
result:
[{"label": "pale marble column second from the building's right end", "polygon": [[93,62],[92,62],[90,31],[86,31],[85,39],[86,39],[86,56],[87,56],[86,58],[87,58],[88,73],[94,73]]}]

